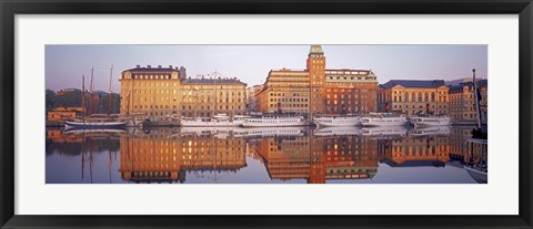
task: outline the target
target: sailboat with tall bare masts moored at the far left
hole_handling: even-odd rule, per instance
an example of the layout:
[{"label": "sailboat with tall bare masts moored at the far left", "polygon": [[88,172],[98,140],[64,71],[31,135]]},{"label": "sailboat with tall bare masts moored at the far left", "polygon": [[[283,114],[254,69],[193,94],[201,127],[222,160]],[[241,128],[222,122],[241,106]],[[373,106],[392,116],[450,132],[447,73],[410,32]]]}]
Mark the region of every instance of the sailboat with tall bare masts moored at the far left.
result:
[{"label": "sailboat with tall bare masts moored at the far left", "polygon": [[[93,79],[94,69],[91,70],[91,98],[92,98],[92,79]],[[74,118],[72,121],[64,121],[66,128],[120,128],[124,127],[130,121],[113,118],[108,112],[107,116],[102,117],[86,117],[86,76],[82,75],[82,90],[81,90],[81,106],[82,106],[82,116],[80,118]],[[109,93],[111,96],[111,92]],[[109,107],[111,108],[111,107]]]}]

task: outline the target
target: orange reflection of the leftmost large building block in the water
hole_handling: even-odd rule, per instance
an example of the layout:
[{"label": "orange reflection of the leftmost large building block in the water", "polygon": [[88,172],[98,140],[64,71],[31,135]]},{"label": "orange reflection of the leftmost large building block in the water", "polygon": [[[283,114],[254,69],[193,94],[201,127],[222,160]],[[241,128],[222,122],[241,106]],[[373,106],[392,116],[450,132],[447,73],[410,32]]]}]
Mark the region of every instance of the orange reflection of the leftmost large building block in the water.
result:
[{"label": "orange reflection of the leftmost large building block in the water", "polygon": [[[230,133],[231,134],[231,133]],[[120,173],[137,183],[185,181],[185,173],[205,176],[237,173],[247,166],[245,142],[230,136],[140,132],[120,139]]]}]

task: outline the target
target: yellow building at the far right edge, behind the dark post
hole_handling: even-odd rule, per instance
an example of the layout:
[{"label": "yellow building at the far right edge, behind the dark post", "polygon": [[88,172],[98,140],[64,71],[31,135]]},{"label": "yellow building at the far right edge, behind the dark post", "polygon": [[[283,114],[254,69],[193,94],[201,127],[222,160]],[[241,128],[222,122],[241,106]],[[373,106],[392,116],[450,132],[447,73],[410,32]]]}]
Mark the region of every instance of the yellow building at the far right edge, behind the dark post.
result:
[{"label": "yellow building at the far right edge, behind the dark post", "polygon": [[[481,94],[481,121],[486,124],[489,119],[487,80],[477,81],[477,87]],[[476,124],[477,113],[472,81],[450,87],[450,116],[456,124]]]}]

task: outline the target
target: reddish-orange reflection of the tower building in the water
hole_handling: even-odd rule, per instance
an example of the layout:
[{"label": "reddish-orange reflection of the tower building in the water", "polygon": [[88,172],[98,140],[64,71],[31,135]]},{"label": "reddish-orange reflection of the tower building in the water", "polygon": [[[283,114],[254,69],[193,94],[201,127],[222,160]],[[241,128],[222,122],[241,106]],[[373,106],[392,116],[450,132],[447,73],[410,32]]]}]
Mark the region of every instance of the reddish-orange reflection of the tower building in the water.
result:
[{"label": "reddish-orange reflection of the tower building in the water", "polygon": [[264,137],[253,147],[264,158],[272,179],[303,178],[310,184],[328,179],[372,178],[378,171],[375,142],[355,135]]}]

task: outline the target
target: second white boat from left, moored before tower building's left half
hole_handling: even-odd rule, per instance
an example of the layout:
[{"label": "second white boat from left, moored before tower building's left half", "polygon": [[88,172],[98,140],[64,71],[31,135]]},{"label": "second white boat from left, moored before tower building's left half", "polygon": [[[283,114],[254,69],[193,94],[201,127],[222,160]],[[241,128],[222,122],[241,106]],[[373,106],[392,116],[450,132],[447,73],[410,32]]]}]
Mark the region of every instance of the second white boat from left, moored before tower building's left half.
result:
[{"label": "second white boat from left, moored before tower building's left half", "polygon": [[282,127],[282,126],[305,126],[308,122],[303,116],[284,117],[284,116],[262,116],[258,118],[244,118],[242,126],[244,127]]}]

